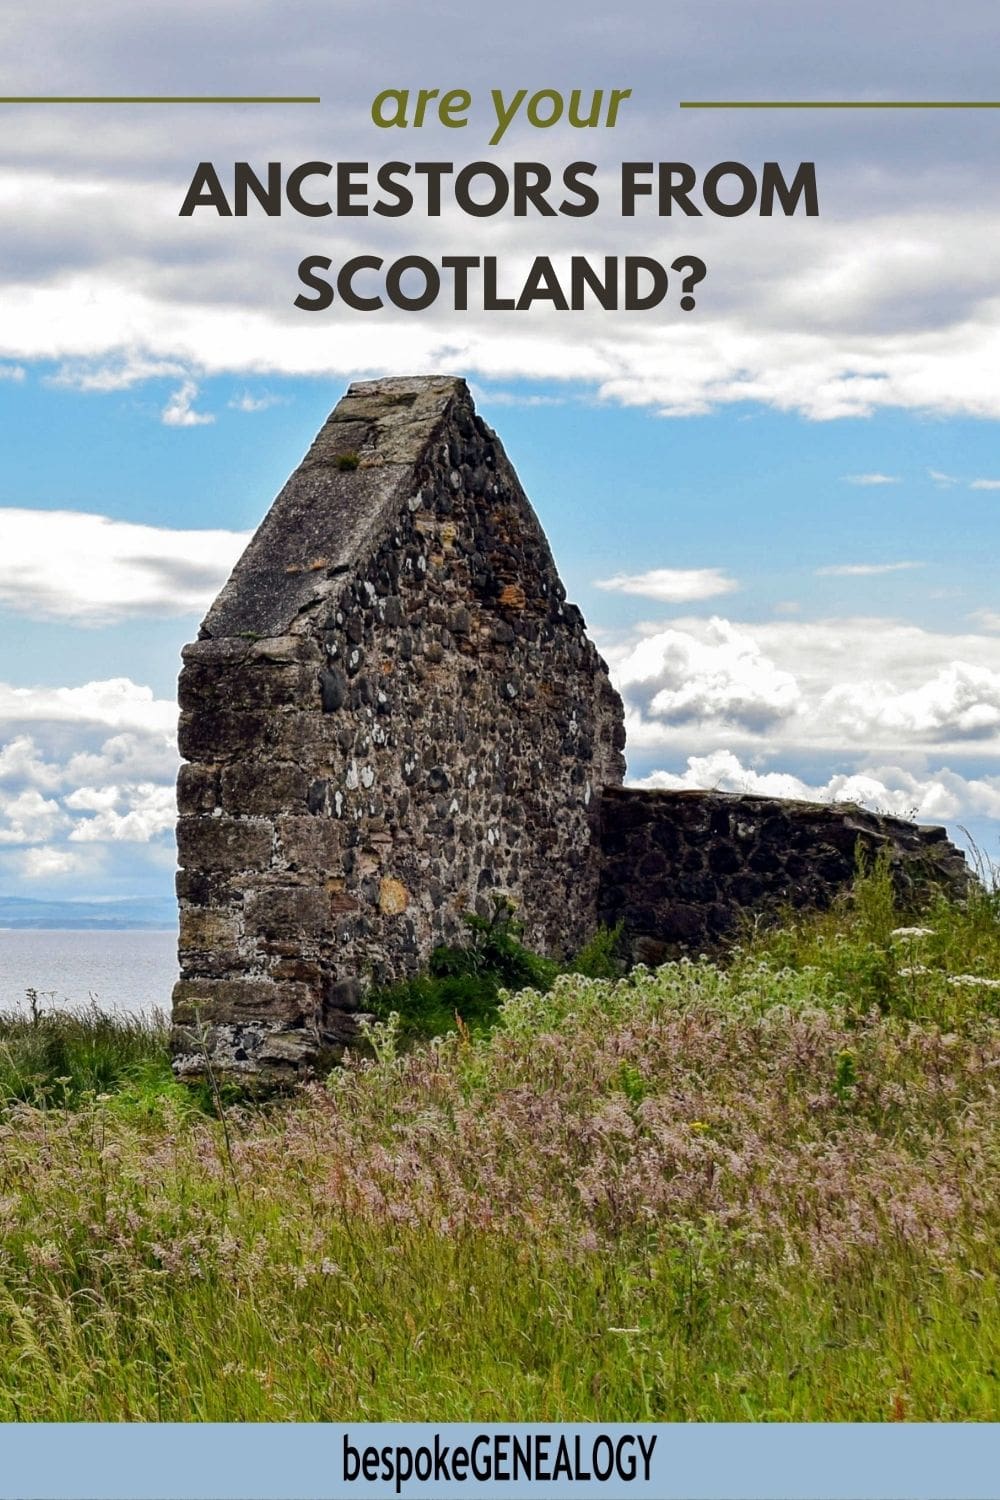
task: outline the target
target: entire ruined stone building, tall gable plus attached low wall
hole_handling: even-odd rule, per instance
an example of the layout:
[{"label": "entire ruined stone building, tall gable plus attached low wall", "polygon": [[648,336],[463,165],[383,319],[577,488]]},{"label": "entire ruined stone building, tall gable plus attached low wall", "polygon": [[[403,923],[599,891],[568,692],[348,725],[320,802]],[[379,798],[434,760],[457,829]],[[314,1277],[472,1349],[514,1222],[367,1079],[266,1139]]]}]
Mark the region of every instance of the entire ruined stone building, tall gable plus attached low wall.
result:
[{"label": "entire ruined stone building, tall gable plus attached low wall", "polygon": [[822,906],[855,846],[958,890],[943,830],[624,789],[622,704],[465,381],[349,387],[184,648],[180,1074],[295,1077],[508,897],[529,945],[633,957]]}]

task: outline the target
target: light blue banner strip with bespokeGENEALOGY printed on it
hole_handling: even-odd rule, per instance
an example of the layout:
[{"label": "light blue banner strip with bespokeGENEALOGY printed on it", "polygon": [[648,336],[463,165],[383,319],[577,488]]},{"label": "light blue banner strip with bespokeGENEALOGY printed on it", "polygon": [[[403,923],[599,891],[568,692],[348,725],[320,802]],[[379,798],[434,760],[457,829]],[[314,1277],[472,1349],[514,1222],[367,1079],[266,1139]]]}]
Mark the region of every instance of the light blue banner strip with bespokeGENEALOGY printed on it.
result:
[{"label": "light blue banner strip with bespokeGENEALOGY printed on it", "polygon": [[0,1430],[0,1500],[999,1500],[997,1425]]}]

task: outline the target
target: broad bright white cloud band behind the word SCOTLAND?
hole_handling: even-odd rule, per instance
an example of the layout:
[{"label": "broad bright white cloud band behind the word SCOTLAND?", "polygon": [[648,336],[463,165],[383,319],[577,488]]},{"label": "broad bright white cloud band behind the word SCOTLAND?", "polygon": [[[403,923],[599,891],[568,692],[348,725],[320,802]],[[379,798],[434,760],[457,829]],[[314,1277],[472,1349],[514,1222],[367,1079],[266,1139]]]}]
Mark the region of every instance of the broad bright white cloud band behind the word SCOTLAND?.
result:
[{"label": "broad bright white cloud band behind the word SCOTLAND?", "polygon": [[[606,192],[612,182],[613,174]],[[109,178],[99,200],[114,216],[115,236],[105,238],[135,250],[120,261],[102,244],[81,244],[79,208],[63,178],[46,182],[40,195],[36,182],[25,182],[18,214],[36,198],[46,207],[37,210],[31,258],[0,282],[0,358],[52,358],[69,370],[82,362],[108,368],[118,384],[129,370],[177,366],[186,378],[163,410],[169,423],[210,417],[193,406],[202,375],[400,369],[583,381],[601,399],[672,416],[747,400],[816,420],[888,406],[1000,414],[991,378],[1000,358],[1000,297],[982,255],[1000,232],[1000,212],[957,206],[853,222],[691,220],[687,249],[712,266],[697,312],[610,324],[607,314],[592,310],[564,318],[538,309],[456,314],[444,304],[420,318],[357,314],[339,303],[310,315],[291,304],[294,267],[303,232],[318,231],[294,216],[268,224],[267,236],[253,218],[234,220],[226,232],[208,219],[178,220],[175,189]],[[571,220],[547,224],[546,250],[556,264],[570,254],[622,254],[615,213],[600,222],[595,216],[583,236]],[[523,231],[519,220],[445,213],[408,222],[406,248],[433,260],[462,240],[496,254],[507,284],[517,286],[537,249]],[[370,252],[372,232],[366,220],[339,222],[337,255]],[[655,255],[660,232],[655,219],[636,219],[628,249]],[[933,254],[913,261],[921,240]],[[51,267],[39,256],[37,246],[57,242],[70,264]],[[391,246],[379,249],[391,254]],[[945,266],[948,308],[940,300]]]}]

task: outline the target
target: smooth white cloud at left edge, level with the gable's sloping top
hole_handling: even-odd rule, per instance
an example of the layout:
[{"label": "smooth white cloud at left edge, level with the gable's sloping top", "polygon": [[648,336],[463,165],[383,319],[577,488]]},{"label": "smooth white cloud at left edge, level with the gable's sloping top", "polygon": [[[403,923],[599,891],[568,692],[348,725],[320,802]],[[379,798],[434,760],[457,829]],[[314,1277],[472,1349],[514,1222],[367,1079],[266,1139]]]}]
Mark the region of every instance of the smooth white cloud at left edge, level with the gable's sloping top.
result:
[{"label": "smooth white cloud at left edge, level with the gable's sloping top", "polygon": [[79,510],[0,508],[0,606],[84,626],[202,614],[241,531],[172,531]]}]

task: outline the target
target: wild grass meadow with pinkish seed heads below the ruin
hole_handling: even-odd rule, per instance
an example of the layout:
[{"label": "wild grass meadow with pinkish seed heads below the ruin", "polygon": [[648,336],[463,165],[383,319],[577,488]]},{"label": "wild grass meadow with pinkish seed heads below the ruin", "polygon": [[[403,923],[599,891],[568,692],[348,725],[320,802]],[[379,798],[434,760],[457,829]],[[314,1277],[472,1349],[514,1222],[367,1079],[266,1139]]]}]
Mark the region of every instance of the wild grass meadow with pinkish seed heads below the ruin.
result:
[{"label": "wild grass meadow with pinkish seed heads below the ruin", "polygon": [[996,1419],[999,958],[876,867],[228,1142],[162,1029],[7,1018],[0,1420]]}]

